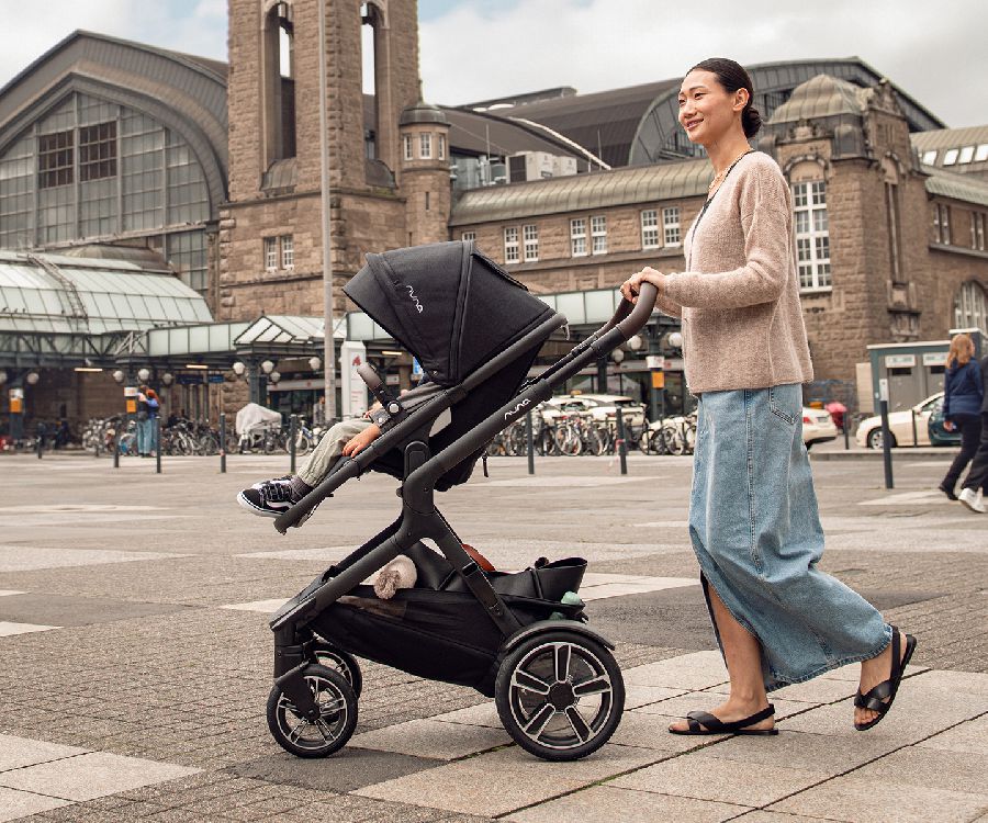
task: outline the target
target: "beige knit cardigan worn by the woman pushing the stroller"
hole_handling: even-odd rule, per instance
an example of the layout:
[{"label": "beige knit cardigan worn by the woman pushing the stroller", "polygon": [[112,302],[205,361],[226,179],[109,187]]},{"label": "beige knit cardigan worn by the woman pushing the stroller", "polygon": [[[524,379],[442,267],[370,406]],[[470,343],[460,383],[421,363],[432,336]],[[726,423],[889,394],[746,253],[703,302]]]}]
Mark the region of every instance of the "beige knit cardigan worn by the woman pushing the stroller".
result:
[{"label": "beige knit cardigan worn by the woman pushing the stroller", "polygon": [[658,307],[682,317],[693,394],[813,379],[793,255],[793,203],[775,160],[744,156],[686,233],[686,271]]}]

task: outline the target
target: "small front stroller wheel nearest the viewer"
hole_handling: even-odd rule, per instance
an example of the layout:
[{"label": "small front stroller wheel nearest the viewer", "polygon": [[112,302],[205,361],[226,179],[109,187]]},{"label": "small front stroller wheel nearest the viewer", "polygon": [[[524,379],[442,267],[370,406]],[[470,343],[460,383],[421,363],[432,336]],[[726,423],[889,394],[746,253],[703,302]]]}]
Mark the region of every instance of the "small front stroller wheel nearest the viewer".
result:
[{"label": "small front stroller wheel nearest the viewer", "polygon": [[297,757],[327,757],[343,748],[357,728],[357,696],[338,672],[313,664],[302,675],[319,706],[319,719],[300,715],[277,686],[268,697],[268,728],[285,752]]}]

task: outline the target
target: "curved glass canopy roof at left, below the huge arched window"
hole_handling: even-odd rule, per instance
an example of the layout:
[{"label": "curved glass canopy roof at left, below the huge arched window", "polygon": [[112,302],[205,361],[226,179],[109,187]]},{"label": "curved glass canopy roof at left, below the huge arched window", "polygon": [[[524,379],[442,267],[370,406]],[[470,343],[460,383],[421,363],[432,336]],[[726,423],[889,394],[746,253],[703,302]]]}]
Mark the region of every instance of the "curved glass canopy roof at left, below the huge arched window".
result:
[{"label": "curved glass canopy roof at left, below the huge arched window", "polygon": [[212,319],[202,296],[170,272],[0,251],[0,334],[104,335]]}]

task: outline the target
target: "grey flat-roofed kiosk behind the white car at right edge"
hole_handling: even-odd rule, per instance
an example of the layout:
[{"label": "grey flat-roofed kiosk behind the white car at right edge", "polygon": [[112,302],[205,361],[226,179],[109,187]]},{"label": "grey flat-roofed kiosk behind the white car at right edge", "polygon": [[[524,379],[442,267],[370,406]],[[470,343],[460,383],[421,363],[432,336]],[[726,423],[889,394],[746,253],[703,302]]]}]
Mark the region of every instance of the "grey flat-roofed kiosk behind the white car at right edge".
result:
[{"label": "grey flat-roofed kiosk behind the white car at right edge", "polygon": [[[951,329],[950,334],[953,338],[962,331],[970,335],[975,357],[981,357],[984,336],[980,330]],[[912,408],[927,397],[942,392],[950,349],[950,339],[868,346],[874,407],[877,408],[880,381],[888,381],[889,412]],[[865,410],[864,407],[862,410]]]}]

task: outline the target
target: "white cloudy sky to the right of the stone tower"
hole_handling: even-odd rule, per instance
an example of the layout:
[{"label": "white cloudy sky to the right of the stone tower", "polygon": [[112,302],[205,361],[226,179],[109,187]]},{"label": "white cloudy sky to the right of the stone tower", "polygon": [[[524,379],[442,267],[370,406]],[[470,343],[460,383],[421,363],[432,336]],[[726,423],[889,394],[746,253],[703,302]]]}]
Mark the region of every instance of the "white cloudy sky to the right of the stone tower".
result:
[{"label": "white cloudy sky to the right of the stone tower", "polygon": [[433,102],[574,86],[582,92],[680,77],[695,63],[858,56],[948,125],[988,123],[988,3],[955,0],[464,2],[420,26]]}]

